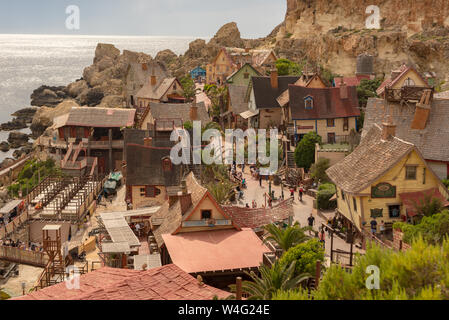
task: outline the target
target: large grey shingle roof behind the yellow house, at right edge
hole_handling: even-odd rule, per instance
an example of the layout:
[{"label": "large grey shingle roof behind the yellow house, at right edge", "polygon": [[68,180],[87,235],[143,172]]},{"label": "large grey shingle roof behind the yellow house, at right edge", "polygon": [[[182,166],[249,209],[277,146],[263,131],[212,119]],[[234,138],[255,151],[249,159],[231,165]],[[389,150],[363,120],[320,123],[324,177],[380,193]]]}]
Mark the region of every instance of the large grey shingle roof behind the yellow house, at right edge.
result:
[{"label": "large grey shingle roof behind the yellow house, at right edge", "polygon": [[414,105],[400,106],[397,103],[389,103],[389,106],[387,110],[382,99],[368,100],[362,138],[375,123],[380,125],[391,109],[398,138],[413,143],[426,160],[449,161],[449,100],[433,100],[424,130],[411,129],[415,115]]}]

